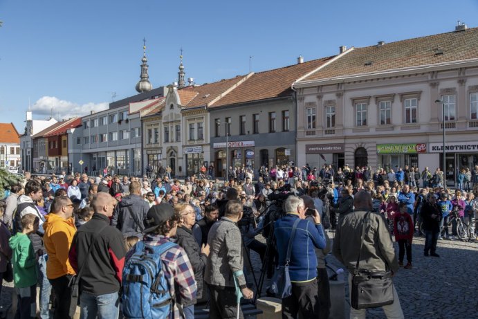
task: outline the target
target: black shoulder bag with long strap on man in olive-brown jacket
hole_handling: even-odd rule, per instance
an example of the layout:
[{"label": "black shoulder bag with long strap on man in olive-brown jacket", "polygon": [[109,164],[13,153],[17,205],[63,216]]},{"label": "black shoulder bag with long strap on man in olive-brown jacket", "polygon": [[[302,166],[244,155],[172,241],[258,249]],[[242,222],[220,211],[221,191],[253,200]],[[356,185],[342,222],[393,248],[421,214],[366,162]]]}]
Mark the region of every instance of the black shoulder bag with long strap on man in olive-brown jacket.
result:
[{"label": "black shoulder bag with long strap on man in olive-brown jacket", "polygon": [[352,275],[351,306],[353,309],[367,309],[386,306],[394,303],[394,286],[391,271],[372,272],[360,269],[360,255],[362,253],[365,226],[369,223],[370,212],[363,220],[362,239],[356,266]]}]

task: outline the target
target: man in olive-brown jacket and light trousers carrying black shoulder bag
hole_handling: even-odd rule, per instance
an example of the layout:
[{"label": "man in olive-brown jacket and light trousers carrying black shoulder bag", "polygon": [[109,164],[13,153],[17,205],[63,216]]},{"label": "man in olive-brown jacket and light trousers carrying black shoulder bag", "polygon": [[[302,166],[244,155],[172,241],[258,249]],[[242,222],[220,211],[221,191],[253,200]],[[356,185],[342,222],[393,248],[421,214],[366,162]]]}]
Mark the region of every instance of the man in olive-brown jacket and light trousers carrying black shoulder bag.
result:
[{"label": "man in olive-brown jacket and light trousers carrying black shoulder bag", "polygon": [[[337,233],[333,239],[333,255],[344,264],[349,271],[349,287],[352,286],[353,270],[362,239],[362,228],[365,223],[365,237],[360,250],[360,269],[371,272],[398,271],[392,236],[389,233],[385,218],[376,212],[371,212],[371,195],[365,190],[355,194],[353,198],[355,209],[339,219]],[[349,288],[350,289],[350,288]],[[394,289],[394,303],[383,306],[387,318],[404,318],[400,300]],[[351,295],[349,291],[349,295]],[[353,309],[350,307],[350,318],[365,318],[366,309]]]}]

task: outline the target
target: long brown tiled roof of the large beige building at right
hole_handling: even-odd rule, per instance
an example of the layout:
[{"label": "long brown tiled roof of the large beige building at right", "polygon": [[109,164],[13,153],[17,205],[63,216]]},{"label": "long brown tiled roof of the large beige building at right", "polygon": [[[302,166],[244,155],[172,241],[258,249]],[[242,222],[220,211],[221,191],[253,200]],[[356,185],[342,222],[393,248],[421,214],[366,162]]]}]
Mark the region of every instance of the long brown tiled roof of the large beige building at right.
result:
[{"label": "long brown tiled roof of the large beige building at right", "polygon": [[300,82],[478,58],[478,28],[355,48]]}]

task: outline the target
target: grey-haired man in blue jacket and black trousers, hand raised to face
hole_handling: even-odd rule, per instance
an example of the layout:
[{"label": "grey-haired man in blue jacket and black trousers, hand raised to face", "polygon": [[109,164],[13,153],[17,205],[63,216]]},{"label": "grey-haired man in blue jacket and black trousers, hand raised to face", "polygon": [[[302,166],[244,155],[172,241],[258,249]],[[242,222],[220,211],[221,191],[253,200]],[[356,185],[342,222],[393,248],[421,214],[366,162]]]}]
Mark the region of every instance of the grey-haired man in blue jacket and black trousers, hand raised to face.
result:
[{"label": "grey-haired man in blue jacket and black trousers, hand raised to face", "polygon": [[[320,224],[320,215],[313,212],[313,221],[306,220],[306,206],[300,197],[289,196],[284,203],[286,215],[275,221],[274,235],[279,254],[279,265],[286,263],[288,242],[297,219],[297,230],[292,242],[289,275],[292,295],[282,299],[282,318],[315,318],[319,313],[317,285],[317,257],[314,248],[324,248],[326,241]],[[305,251],[304,251],[305,250]]]}]

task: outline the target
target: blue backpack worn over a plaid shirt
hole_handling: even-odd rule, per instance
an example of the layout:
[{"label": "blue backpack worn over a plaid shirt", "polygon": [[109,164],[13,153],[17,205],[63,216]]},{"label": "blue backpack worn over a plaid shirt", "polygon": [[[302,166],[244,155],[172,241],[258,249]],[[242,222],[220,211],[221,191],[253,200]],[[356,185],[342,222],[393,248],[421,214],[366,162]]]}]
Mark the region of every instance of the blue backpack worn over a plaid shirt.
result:
[{"label": "blue backpack worn over a plaid shirt", "polygon": [[134,254],[122,273],[122,311],[125,318],[169,318],[173,311],[163,262],[160,255],[176,246],[167,242],[159,246],[138,241]]}]

